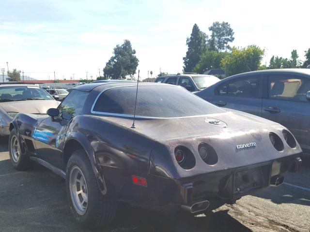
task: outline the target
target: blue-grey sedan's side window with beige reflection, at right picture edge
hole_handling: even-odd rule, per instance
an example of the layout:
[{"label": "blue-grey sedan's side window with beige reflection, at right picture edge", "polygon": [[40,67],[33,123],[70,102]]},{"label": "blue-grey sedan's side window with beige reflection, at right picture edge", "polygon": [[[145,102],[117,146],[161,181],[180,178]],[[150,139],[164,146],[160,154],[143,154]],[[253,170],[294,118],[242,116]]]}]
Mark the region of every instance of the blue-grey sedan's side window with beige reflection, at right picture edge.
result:
[{"label": "blue-grey sedan's side window with beige reflection, at right picture edge", "polygon": [[269,98],[309,102],[310,78],[294,75],[269,75]]}]

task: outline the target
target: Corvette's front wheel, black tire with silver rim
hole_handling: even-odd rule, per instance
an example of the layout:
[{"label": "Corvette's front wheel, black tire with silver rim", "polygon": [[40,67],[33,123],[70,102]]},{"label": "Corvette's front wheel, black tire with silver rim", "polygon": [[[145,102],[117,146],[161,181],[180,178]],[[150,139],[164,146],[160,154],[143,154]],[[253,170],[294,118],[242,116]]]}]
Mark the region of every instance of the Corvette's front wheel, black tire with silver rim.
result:
[{"label": "Corvette's front wheel, black tire with silver rim", "polygon": [[[18,143],[20,147],[19,152],[16,152],[15,149],[16,146],[12,145],[12,142]],[[16,153],[19,153],[18,157],[16,157],[15,155]],[[9,136],[9,154],[13,167],[16,170],[24,171],[31,167],[31,160],[29,156],[26,154],[26,149],[25,147],[23,147],[23,144],[21,143],[15,128],[13,128]]]}]

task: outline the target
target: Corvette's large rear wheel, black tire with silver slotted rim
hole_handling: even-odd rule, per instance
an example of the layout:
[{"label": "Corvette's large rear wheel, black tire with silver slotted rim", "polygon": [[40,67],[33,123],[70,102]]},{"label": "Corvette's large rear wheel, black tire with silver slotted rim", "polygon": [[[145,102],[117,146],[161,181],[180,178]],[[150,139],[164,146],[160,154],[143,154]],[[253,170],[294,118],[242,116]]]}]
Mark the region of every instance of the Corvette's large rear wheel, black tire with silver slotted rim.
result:
[{"label": "Corvette's large rear wheel, black tire with silver slotted rim", "polygon": [[84,150],[75,151],[68,161],[66,189],[71,213],[81,226],[98,229],[115,217],[117,204],[101,194]]}]

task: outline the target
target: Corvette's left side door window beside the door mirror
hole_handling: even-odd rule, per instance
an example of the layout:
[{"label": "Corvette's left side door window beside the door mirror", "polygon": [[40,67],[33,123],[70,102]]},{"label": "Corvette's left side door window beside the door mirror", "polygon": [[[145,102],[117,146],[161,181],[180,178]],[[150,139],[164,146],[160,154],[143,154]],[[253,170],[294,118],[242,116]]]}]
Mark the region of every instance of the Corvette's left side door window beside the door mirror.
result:
[{"label": "Corvette's left side door window beside the door mirror", "polygon": [[68,96],[58,106],[60,112],[59,116],[61,116],[63,112],[69,114],[72,117],[80,115],[82,113],[88,94],[89,92],[79,90],[71,91],[70,94],[68,94]]}]

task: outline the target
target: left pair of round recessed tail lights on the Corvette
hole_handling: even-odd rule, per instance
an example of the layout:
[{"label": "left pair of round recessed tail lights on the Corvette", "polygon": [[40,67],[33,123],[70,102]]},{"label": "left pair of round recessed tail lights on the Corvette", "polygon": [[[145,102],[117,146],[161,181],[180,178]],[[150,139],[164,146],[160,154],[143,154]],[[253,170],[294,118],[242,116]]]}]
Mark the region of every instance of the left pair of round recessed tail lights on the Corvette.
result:
[{"label": "left pair of round recessed tail lights on the Corvette", "polygon": [[[198,146],[198,152],[206,164],[214,165],[217,163],[217,153],[212,146],[201,143]],[[178,164],[186,170],[193,168],[196,164],[193,153],[185,146],[177,146],[174,149],[174,157]]]}]

